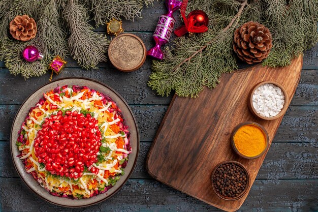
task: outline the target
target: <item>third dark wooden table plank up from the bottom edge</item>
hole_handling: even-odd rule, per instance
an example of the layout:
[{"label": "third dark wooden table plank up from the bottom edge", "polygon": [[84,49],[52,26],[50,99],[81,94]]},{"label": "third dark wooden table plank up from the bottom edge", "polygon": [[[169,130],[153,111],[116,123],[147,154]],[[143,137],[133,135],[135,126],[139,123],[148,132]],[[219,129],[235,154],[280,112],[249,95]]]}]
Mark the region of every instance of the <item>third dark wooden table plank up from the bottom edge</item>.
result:
[{"label": "third dark wooden table plank up from the bottom edge", "polygon": [[[168,109],[167,105],[130,105],[137,119],[140,140],[151,142]],[[13,118],[20,105],[0,105],[0,140],[9,140]],[[290,106],[282,119],[274,142],[315,143],[318,132],[318,108]]]}]

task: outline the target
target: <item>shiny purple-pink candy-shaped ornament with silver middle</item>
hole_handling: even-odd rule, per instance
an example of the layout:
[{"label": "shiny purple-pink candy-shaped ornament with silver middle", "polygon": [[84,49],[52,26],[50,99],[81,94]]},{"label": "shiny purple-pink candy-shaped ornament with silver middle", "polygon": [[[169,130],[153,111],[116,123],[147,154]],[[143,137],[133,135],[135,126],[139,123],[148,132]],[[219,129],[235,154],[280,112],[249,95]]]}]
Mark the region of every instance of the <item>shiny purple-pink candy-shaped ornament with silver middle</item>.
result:
[{"label": "shiny purple-pink candy-shaped ornament with silver middle", "polygon": [[163,59],[164,52],[161,50],[161,46],[168,43],[173,32],[176,19],[173,17],[173,13],[181,7],[182,1],[167,0],[166,7],[168,13],[159,17],[155,31],[153,33],[153,40],[155,46],[147,51],[147,55],[156,59]]}]

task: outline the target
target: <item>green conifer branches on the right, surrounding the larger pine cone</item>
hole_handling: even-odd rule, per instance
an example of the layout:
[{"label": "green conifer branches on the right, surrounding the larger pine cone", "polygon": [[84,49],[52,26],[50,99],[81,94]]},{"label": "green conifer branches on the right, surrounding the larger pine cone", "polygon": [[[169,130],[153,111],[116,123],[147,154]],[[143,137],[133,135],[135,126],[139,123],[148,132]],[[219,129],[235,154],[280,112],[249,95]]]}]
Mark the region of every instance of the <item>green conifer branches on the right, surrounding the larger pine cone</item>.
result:
[{"label": "green conifer branches on the right, surrounding the larger pine cone", "polygon": [[248,21],[264,24],[272,34],[273,48],[263,65],[288,66],[318,42],[316,0],[189,1],[187,11],[197,9],[208,14],[209,31],[175,39],[173,51],[166,48],[166,58],[153,61],[148,85],[158,95],[175,90],[180,97],[195,98],[205,86],[215,87],[222,73],[237,69],[233,34]]}]

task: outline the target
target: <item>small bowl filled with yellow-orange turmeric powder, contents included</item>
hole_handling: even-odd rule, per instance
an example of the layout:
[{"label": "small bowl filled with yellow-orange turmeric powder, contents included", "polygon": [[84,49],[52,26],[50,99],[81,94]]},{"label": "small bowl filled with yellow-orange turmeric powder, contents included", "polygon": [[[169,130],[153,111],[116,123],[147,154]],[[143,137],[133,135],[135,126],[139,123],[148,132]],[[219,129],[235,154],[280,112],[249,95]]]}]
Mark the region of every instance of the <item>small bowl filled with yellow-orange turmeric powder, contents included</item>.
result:
[{"label": "small bowl filled with yellow-orange turmeric powder, contents included", "polygon": [[269,147],[265,128],[256,122],[244,122],[232,132],[231,145],[234,151],[246,159],[261,157]]}]

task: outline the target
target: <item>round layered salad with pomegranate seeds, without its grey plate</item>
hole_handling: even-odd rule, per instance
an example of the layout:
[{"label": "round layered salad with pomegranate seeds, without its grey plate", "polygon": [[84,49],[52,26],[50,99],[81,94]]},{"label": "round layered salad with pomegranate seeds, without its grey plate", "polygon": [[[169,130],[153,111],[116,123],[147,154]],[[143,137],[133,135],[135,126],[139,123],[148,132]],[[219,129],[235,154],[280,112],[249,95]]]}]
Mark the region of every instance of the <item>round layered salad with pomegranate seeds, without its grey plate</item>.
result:
[{"label": "round layered salad with pomegranate seeds, without its grey plate", "polygon": [[28,173],[52,195],[88,198],[116,184],[128,162],[130,132],[108,96],[58,86],[30,108],[16,142]]}]

